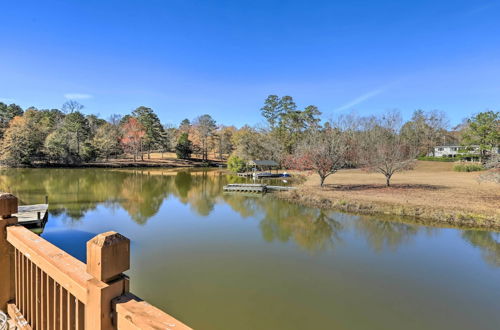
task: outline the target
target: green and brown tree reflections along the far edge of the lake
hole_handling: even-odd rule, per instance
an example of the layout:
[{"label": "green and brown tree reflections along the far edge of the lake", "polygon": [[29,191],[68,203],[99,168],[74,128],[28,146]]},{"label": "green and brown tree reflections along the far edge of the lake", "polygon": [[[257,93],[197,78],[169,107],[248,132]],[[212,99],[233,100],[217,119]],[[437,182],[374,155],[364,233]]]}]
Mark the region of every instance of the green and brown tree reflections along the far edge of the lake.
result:
[{"label": "green and brown tree reflections along the far edge of the lake", "polygon": [[[2,169],[0,189],[17,195],[22,204],[41,203],[49,196],[50,213],[78,222],[98,205],[122,208],[138,224],[158,213],[173,196],[196,214],[208,216],[217,203],[241,217],[254,217],[264,240],[294,242],[311,253],[334,248],[346,230],[360,233],[375,251],[396,250],[411,241],[420,227],[301,207],[271,196],[224,194],[228,182],[246,179],[220,171],[169,169]],[[332,215],[335,214],[333,217]],[[432,230],[422,230],[432,234]],[[483,258],[500,267],[498,233],[464,231],[462,237],[482,250]]]}]

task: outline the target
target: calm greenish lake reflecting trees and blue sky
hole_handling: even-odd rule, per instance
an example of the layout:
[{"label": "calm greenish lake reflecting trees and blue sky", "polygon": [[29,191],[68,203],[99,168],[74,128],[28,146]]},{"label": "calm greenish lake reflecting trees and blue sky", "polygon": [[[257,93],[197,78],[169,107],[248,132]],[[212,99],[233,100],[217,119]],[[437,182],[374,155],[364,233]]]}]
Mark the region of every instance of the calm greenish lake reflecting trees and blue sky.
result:
[{"label": "calm greenish lake reflecting trees and blue sky", "polygon": [[[3,169],[42,234],[132,241],[131,291],[196,329],[500,329],[500,234],[224,194],[220,171]],[[397,220],[397,219],[394,219]]]}]

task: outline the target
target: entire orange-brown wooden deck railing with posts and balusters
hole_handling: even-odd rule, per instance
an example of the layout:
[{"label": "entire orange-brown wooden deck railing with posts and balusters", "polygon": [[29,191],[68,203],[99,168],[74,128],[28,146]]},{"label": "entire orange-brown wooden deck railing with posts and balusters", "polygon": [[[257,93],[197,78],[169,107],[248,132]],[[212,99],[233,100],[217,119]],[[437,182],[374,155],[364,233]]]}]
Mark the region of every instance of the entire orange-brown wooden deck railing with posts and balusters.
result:
[{"label": "entire orange-brown wooden deck railing with posts and balusters", "polygon": [[129,293],[130,241],[87,242],[83,263],[17,224],[17,198],[0,194],[0,309],[19,329],[190,329]]}]

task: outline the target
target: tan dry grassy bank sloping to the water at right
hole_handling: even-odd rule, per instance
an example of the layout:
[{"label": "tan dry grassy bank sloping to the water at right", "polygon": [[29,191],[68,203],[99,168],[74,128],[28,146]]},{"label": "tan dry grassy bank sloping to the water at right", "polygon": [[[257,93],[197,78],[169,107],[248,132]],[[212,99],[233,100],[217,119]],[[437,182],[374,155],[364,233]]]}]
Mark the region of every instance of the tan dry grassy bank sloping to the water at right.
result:
[{"label": "tan dry grassy bank sloping to the water at right", "polygon": [[427,224],[500,229],[500,185],[480,182],[479,173],[454,172],[453,164],[418,162],[398,173],[391,187],[380,174],[344,170],[319,187],[314,174],[280,198],[358,214],[389,214]]}]

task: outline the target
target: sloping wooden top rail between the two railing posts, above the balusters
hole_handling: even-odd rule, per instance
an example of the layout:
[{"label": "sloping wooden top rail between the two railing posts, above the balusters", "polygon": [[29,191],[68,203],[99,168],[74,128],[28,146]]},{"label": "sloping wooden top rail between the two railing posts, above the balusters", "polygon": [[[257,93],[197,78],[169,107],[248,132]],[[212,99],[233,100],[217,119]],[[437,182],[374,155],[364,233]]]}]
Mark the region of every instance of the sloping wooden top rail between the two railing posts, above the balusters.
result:
[{"label": "sloping wooden top rail between the two railing posts, above the balusters", "polygon": [[24,255],[29,255],[47,275],[86,303],[87,281],[92,278],[86,265],[22,226],[7,228],[7,241]]}]

